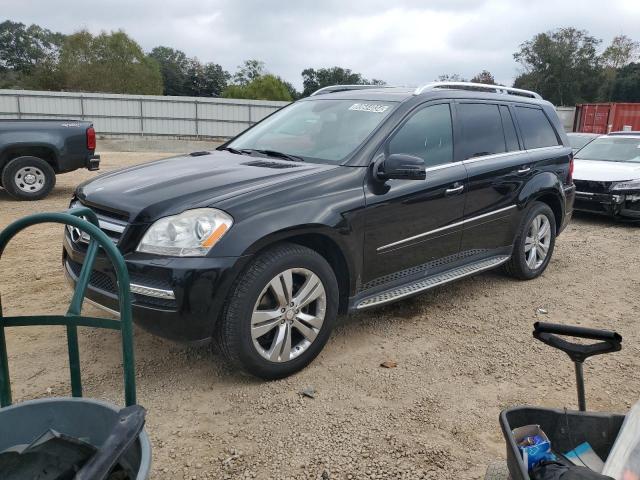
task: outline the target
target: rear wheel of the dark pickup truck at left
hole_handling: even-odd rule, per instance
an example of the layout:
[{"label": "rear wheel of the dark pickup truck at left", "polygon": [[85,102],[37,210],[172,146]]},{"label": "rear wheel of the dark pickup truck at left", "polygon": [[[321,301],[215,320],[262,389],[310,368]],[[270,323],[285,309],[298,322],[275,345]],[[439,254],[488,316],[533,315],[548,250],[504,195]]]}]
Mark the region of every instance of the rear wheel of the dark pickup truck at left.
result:
[{"label": "rear wheel of the dark pickup truck at left", "polygon": [[2,186],[17,200],[41,200],[56,184],[56,173],[38,157],[17,157],[2,170]]}]

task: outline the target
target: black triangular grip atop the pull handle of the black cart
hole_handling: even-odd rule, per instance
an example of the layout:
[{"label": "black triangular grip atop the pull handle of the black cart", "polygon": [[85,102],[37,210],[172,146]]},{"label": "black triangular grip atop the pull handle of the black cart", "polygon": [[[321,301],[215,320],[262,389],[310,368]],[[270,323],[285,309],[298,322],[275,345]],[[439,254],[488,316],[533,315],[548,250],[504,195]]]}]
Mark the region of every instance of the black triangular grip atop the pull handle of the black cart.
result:
[{"label": "black triangular grip atop the pull handle of the black cart", "polygon": [[[622,349],[622,337],[611,330],[559,325],[557,323],[536,322],[533,325],[533,336],[550,347],[563,351],[574,362],[582,363],[593,355],[617,352]],[[601,340],[590,345],[572,343],[561,336]]]}]

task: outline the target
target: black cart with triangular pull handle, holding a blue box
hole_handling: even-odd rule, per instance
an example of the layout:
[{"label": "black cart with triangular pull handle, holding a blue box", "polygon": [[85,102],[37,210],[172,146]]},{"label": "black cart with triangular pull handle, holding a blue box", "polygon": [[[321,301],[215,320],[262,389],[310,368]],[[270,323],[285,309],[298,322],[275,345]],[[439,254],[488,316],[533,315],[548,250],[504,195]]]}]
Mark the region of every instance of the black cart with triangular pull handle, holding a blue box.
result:
[{"label": "black cart with triangular pull handle, holding a blue box", "polygon": [[[490,465],[485,480],[529,480],[527,465],[513,435],[516,428],[539,425],[555,452],[569,452],[581,443],[588,442],[595,453],[606,460],[624,421],[624,415],[586,411],[582,368],[584,361],[591,356],[619,351],[622,348],[619,334],[608,330],[536,322],[533,336],[565,352],[574,362],[579,410],[530,406],[503,410],[500,413],[500,426],[507,445],[507,462],[506,465]],[[595,343],[573,343],[562,337],[595,340]]]}]

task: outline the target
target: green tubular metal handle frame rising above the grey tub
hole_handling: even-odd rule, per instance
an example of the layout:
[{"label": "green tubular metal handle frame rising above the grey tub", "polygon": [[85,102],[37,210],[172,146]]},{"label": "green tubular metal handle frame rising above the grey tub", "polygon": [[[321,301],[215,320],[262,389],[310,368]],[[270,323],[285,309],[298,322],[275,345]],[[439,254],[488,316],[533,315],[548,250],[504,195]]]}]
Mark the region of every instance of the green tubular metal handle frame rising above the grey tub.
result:
[{"label": "green tubular metal handle frame rising above the grey tub", "polygon": [[[32,325],[65,325],[67,327],[71,392],[74,397],[82,397],[77,327],[86,326],[120,330],[122,337],[125,403],[127,406],[134,405],[136,403],[136,383],[133,354],[133,327],[131,320],[131,287],[129,284],[129,272],[127,271],[127,266],[122,254],[111,239],[100,230],[96,214],[86,207],[80,207],[70,209],[65,213],[37,213],[16,220],[0,232],[0,257],[9,241],[16,234],[25,228],[39,223],[71,225],[89,234],[90,242],[66,315],[5,317],[2,315],[2,301],[0,299],[0,407],[11,405],[11,382],[9,379],[9,361],[4,329],[6,327]],[[120,321],[107,318],[84,317],[81,315],[82,304],[99,248],[102,249],[109,260],[111,260],[116,272]]]}]

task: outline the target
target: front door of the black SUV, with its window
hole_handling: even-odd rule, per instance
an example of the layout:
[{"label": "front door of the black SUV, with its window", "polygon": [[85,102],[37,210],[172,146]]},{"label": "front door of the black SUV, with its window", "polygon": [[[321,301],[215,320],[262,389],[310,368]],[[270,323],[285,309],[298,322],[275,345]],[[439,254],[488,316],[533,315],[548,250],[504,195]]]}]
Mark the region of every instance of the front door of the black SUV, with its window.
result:
[{"label": "front door of the black SUV, with its window", "polygon": [[449,102],[418,107],[395,129],[380,154],[419,156],[425,180],[371,178],[365,185],[364,288],[426,273],[460,248],[466,171],[454,162]]}]

